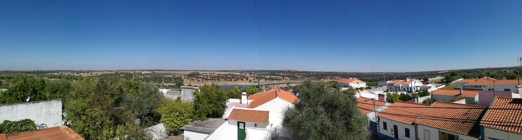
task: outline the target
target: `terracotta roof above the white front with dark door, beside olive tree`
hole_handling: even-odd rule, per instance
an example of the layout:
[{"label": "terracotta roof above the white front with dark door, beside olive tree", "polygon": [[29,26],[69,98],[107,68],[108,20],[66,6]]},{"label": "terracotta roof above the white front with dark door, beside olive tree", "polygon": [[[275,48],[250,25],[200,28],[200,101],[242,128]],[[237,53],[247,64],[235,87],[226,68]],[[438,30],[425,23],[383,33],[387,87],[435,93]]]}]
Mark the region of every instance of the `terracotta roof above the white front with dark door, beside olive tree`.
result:
[{"label": "terracotta roof above the white front with dark door, beside olive tree", "polygon": [[[400,106],[408,106],[405,108],[400,108]],[[422,114],[426,108],[428,108],[429,104],[417,104],[410,102],[402,102],[397,101],[391,106],[387,107],[381,113],[378,113],[377,116],[381,118],[386,118],[389,120],[402,122],[406,124],[412,124],[415,121],[416,117]]]}]

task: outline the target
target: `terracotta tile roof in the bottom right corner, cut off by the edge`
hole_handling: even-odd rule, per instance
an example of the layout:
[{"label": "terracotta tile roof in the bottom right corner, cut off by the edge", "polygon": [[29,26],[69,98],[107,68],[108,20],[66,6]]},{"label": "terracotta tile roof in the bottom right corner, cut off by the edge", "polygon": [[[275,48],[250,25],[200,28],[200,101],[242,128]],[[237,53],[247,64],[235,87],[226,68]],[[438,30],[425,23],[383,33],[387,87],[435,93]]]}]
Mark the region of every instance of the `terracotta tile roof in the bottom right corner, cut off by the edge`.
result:
[{"label": "terracotta tile roof in the bottom right corner, cut off by the edge", "polygon": [[491,103],[490,108],[511,109],[488,109],[481,121],[481,123],[488,124],[481,125],[484,127],[522,134],[522,117],[520,117],[522,115],[522,99],[496,97]]}]

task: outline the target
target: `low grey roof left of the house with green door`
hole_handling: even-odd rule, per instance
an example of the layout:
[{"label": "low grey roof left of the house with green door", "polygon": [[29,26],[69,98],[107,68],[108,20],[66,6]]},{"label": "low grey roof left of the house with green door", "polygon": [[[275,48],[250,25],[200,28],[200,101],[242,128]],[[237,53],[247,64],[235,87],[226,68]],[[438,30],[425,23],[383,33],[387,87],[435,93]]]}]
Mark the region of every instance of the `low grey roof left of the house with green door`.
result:
[{"label": "low grey roof left of the house with green door", "polygon": [[226,120],[221,118],[208,118],[203,121],[193,121],[185,126],[183,126],[182,130],[188,130],[193,132],[202,132],[210,134],[221,126],[221,124],[225,123]]}]

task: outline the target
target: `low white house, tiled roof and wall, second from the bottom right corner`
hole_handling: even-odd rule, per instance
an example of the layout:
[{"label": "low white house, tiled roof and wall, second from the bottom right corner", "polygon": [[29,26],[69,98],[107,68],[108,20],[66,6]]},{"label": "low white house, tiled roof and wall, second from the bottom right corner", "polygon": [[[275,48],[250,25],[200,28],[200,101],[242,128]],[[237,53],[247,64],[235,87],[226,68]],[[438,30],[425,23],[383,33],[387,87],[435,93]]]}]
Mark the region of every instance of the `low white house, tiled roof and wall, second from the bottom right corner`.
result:
[{"label": "low white house, tiled roof and wall, second from the bottom right corner", "polygon": [[[477,109],[470,109],[477,108]],[[419,139],[479,139],[478,125],[486,107],[448,102],[435,102],[414,123]],[[441,116],[433,118],[433,116]],[[461,120],[464,122],[457,122]]]}]

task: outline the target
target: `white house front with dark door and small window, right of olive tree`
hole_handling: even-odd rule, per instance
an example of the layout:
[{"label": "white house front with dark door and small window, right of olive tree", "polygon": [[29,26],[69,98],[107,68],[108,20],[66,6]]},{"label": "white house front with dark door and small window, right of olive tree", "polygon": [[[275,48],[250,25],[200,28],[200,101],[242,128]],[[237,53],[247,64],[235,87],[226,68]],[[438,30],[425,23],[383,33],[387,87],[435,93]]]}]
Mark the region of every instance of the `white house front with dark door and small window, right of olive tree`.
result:
[{"label": "white house front with dark door and small window, right of olive tree", "polygon": [[[377,114],[378,116],[378,114]],[[387,129],[388,130],[384,130],[384,123],[383,122],[386,122],[387,123]],[[384,134],[384,135],[387,135],[387,136],[390,136],[390,137],[394,137],[394,132],[392,131],[393,130],[393,125],[397,125],[397,129],[399,130],[399,139],[416,139],[415,138],[415,127],[413,125],[410,125],[410,124],[405,124],[405,123],[402,123],[402,122],[397,122],[397,121],[393,121],[393,120],[388,120],[386,118],[382,118],[382,117],[379,117],[379,131],[381,132],[381,134]],[[410,137],[406,137],[405,136],[405,128],[408,128],[410,129]]]}]

